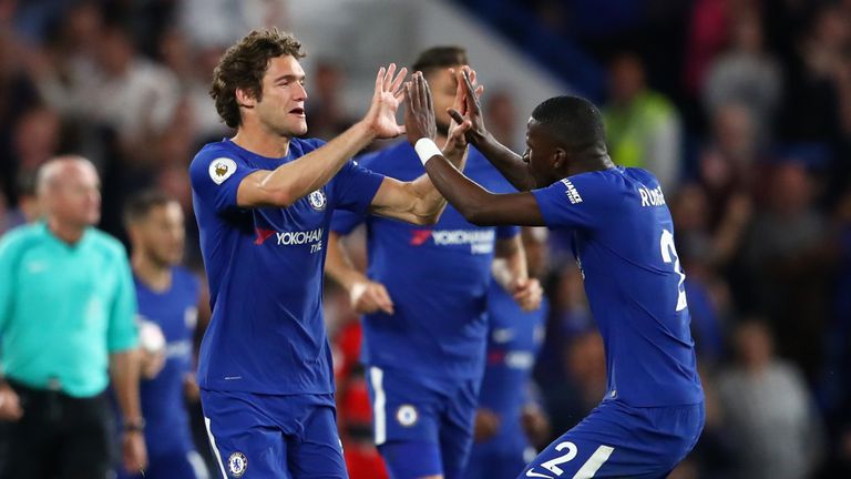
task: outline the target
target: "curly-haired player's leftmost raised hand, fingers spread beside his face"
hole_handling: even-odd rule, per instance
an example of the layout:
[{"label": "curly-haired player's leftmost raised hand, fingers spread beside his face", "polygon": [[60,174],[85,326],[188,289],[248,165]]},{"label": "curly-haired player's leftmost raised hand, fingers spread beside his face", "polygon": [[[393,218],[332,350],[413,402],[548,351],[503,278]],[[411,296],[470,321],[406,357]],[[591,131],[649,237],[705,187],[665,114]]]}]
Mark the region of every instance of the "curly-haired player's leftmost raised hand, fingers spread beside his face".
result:
[{"label": "curly-haired player's leftmost raised hand, fingers spread beside his face", "polygon": [[391,139],[404,133],[404,126],[397,124],[396,112],[399,110],[402,94],[402,82],[408,69],[397,73],[396,63],[385,70],[381,67],[376,75],[376,90],[363,121],[376,133],[376,137]]}]

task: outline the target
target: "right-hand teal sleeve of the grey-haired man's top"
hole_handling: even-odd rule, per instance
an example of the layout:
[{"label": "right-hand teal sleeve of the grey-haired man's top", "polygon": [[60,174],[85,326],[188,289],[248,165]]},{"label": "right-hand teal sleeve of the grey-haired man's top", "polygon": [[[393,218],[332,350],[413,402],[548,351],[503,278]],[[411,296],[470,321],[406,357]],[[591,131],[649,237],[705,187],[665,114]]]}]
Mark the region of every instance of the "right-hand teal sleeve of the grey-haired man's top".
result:
[{"label": "right-hand teal sleeve of the grey-haired man's top", "polygon": [[139,343],[135,322],[136,292],[133,287],[130,263],[123,248],[121,248],[121,254],[116,255],[114,267],[117,269],[117,282],[110,308],[110,326],[106,333],[106,345],[110,353],[132,349]]}]

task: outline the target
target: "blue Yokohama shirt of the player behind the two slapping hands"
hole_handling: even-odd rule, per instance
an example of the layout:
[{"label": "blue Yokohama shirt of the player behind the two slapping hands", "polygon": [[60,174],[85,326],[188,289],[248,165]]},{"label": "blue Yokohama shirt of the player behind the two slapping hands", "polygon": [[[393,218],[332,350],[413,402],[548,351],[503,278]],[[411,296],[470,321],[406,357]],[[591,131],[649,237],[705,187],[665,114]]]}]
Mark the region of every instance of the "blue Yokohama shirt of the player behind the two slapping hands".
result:
[{"label": "blue Yokohama shirt of the player behind the two slapping hands", "polygon": [[[423,174],[422,163],[407,142],[359,162],[401,181]],[[491,191],[512,191],[472,147],[464,172]],[[475,226],[451,205],[431,226],[336,212],[331,228],[348,234],[361,223],[368,230],[367,275],[387,287],[396,312],[365,315],[361,359],[370,366],[403,367],[431,377],[481,377],[494,244],[498,238],[513,237],[519,228]]]}]

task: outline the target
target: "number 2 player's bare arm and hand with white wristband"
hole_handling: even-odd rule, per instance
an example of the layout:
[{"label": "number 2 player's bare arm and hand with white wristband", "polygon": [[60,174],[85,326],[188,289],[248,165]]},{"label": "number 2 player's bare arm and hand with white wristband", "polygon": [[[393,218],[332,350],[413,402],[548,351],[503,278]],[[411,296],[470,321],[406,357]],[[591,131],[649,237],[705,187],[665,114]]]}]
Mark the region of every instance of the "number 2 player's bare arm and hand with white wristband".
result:
[{"label": "number 2 player's bare arm and hand with white wristband", "polygon": [[[530,192],[493,194],[464,176],[434,146],[434,111],[429,85],[414,74],[406,94],[404,124],[426,172],[444,198],[475,225],[544,226],[544,218]],[[410,113],[409,113],[410,112]],[[469,123],[470,120],[463,120]],[[420,142],[422,140],[422,142]]]}]

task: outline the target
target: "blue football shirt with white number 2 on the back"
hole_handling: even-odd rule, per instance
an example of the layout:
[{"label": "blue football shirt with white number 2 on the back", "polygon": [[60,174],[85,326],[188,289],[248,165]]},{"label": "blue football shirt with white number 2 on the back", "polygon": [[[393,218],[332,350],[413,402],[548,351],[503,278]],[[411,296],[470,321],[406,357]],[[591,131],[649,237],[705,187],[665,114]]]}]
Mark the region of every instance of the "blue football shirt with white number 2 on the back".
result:
[{"label": "blue football shirt with white number 2 on the back", "polygon": [[686,276],[656,177],[613,167],[532,193],[550,228],[574,234],[574,254],[606,349],[606,399],[636,407],[703,401]]}]

